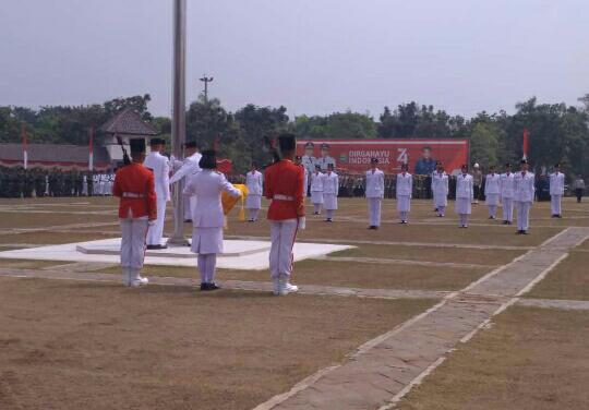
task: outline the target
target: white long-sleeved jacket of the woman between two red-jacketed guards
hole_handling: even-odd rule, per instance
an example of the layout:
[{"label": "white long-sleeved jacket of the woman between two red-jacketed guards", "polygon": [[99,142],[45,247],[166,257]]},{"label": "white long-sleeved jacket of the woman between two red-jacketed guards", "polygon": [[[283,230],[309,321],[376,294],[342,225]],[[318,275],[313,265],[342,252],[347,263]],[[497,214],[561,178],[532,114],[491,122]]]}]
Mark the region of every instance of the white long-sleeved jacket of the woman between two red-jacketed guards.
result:
[{"label": "white long-sleeved jacket of the woman between two red-jacketed guards", "polygon": [[192,225],[196,228],[220,228],[225,225],[221,192],[227,191],[232,196],[241,196],[225,176],[213,170],[202,170],[189,177],[183,194],[196,196],[199,206],[192,210]]}]

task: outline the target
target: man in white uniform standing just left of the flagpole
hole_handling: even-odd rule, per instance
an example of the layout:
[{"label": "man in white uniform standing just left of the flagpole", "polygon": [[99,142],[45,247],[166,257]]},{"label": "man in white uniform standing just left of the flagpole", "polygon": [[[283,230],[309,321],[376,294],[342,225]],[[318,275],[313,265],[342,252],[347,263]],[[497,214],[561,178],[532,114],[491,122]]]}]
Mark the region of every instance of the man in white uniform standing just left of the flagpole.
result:
[{"label": "man in white uniform standing just left of the flagpole", "polygon": [[170,201],[170,166],[168,158],[160,154],[165,141],[152,138],[149,145],[152,152],[145,158],[143,165],[154,171],[155,189],[157,195],[157,220],[149,226],[147,231],[147,249],[166,249],[161,243],[164,237],[164,222],[166,220],[166,204]]}]

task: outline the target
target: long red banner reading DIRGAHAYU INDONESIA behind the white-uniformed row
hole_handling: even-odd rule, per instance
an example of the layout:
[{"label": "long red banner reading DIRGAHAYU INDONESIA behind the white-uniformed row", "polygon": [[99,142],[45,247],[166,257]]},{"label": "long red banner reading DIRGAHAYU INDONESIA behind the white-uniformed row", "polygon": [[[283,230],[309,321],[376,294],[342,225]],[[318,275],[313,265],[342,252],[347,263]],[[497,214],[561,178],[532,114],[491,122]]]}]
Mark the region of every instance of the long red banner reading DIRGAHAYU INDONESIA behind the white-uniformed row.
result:
[{"label": "long red banner reading DIRGAHAYU INDONESIA behind the white-uniformed row", "polygon": [[[309,143],[313,146],[311,147]],[[369,169],[371,158],[377,158],[378,168],[388,173],[399,172],[401,164],[407,162],[410,172],[430,174],[436,160],[444,164],[446,172],[459,173],[460,167],[468,164],[469,141],[455,138],[311,140],[298,141],[297,154],[313,156],[315,164],[320,165],[334,161],[336,170],[350,173]],[[303,164],[305,164],[305,158],[303,158]]]}]

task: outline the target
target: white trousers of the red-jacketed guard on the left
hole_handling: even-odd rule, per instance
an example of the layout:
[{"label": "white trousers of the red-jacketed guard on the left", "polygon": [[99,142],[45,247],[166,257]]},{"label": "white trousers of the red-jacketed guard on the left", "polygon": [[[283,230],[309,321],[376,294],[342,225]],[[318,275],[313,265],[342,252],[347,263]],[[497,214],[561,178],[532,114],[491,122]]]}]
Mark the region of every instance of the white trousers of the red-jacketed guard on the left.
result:
[{"label": "white trousers of the red-jacketed guard on the left", "polygon": [[141,269],[145,256],[147,217],[124,218],[121,222],[121,266]]}]

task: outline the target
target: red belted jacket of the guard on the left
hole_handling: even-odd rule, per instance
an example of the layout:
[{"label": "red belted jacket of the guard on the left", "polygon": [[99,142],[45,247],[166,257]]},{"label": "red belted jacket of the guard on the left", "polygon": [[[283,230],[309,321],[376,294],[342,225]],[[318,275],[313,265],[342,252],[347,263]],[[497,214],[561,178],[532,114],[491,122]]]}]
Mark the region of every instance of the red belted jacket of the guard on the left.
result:
[{"label": "red belted jacket of the guard on the left", "polygon": [[115,177],[112,195],[121,198],[119,218],[129,217],[129,209],[133,218],[157,218],[154,172],[143,165],[132,162],[119,169]]}]

